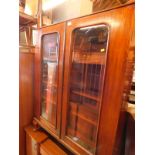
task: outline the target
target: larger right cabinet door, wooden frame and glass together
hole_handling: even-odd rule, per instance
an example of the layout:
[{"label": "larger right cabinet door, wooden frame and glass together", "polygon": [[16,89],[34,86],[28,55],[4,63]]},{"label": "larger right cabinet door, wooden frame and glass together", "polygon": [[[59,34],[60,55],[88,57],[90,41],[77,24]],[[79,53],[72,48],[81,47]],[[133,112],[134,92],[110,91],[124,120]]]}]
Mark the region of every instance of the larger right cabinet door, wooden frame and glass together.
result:
[{"label": "larger right cabinet door, wooden frame and glass together", "polygon": [[107,151],[112,150],[120,113],[119,76],[124,76],[132,9],[131,5],[67,22],[61,131],[77,154],[111,155]]}]

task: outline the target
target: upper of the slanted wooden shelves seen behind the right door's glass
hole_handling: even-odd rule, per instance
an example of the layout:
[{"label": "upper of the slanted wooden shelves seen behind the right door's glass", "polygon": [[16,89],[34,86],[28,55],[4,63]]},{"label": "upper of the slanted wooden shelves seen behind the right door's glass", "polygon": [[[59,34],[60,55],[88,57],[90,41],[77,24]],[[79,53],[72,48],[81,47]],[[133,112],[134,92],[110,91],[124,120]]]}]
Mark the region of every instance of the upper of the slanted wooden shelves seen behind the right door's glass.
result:
[{"label": "upper of the slanted wooden shelves seen behind the right door's glass", "polygon": [[83,96],[83,97],[92,99],[92,100],[95,100],[95,101],[100,101],[98,96],[92,95],[95,92],[91,92],[91,91],[80,92],[80,91],[73,90],[72,93],[79,95],[79,96]]}]

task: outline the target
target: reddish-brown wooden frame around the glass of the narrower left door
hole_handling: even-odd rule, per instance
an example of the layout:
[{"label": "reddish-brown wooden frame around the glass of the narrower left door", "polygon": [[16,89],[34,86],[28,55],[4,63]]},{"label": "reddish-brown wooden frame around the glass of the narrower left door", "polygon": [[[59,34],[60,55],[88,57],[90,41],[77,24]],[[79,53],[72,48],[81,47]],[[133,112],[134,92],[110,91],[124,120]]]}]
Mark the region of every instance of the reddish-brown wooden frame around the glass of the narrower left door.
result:
[{"label": "reddish-brown wooden frame around the glass of the narrower left door", "polygon": [[[58,87],[57,87],[57,120],[56,129],[41,117],[41,61],[42,61],[42,36],[45,34],[52,34],[58,32],[59,34],[59,58],[58,58]],[[38,31],[38,43],[35,50],[35,110],[34,115],[42,126],[48,128],[55,136],[60,135],[61,123],[61,96],[62,96],[62,78],[63,78],[63,57],[64,57],[64,32],[65,23],[55,24],[52,26],[44,27]]]}]

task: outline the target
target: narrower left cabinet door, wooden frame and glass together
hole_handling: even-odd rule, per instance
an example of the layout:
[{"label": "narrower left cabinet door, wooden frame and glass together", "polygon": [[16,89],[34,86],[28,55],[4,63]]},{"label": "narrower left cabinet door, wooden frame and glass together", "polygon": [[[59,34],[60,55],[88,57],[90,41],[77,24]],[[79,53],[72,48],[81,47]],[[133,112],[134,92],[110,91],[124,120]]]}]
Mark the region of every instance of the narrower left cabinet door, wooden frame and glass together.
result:
[{"label": "narrower left cabinet door, wooden frame and glass together", "polygon": [[36,53],[36,116],[40,125],[55,135],[60,134],[64,28],[64,23],[42,28]]}]

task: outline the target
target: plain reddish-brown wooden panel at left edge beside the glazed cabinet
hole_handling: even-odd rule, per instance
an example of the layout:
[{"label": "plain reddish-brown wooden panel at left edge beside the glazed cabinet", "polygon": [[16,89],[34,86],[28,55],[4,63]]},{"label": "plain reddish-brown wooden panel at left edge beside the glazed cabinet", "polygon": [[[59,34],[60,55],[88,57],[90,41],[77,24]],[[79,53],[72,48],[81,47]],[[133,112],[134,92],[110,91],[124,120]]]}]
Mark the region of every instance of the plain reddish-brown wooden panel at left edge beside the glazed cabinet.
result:
[{"label": "plain reddish-brown wooden panel at left edge beside the glazed cabinet", "polygon": [[33,65],[34,54],[19,54],[19,152],[25,155],[24,127],[32,122],[33,118]]}]

